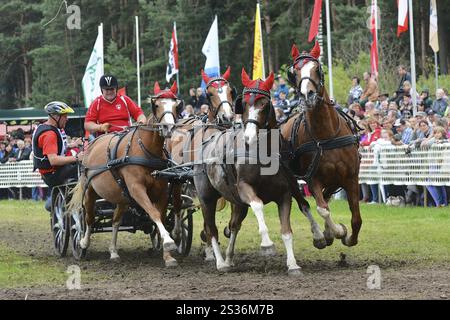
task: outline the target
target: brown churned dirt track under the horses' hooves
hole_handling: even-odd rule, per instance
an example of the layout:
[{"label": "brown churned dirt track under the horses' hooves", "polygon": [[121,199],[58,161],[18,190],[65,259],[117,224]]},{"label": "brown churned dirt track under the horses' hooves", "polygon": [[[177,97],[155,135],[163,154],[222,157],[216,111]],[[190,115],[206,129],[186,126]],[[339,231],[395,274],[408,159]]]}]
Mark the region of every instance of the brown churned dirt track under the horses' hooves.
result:
[{"label": "brown churned dirt track under the horses' hooves", "polygon": [[[23,228],[23,227],[22,227]],[[28,229],[28,228],[27,228]],[[53,256],[50,235],[43,230],[22,230],[0,225],[0,241],[35,259]],[[87,261],[62,259],[81,267],[81,290],[56,287],[0,289],[0,299],[449,299],[450,266],[358,261],[347,265],[308,261],[298,257],[303,276],[288,277],[285,256],[260,257],[237,252],[233,272],[221,274],[203,261],[201,248],[178,259],[179,267],[166,269],[162,258],[147,252],[145,238],[119,236],[121,261],[109,261],[109,235],[95,235]],[[134,240],[130,240],[134,239]],[[222,245],[223,247],[223,245]],[[70,250],[69,250],[70,254]],[[57,258],[50,258],[57,259]],[[367,267],[381,268],[381,289],[369,290]],[[83,273],[88,274],[83,278]]]}]

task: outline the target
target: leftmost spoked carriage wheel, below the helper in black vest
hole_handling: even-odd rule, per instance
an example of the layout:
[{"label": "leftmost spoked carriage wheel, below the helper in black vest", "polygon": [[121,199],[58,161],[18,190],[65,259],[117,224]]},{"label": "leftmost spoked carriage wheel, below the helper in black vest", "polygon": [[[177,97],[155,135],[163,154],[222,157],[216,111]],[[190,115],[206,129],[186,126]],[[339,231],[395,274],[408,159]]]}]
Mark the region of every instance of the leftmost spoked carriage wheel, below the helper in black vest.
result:
[{"label": "leftmost spoked carriage wheel, below the helper in black vest", "polygon": [[55,194],[52,194],[50,226],[55,252],[58,256],[65,257],[69,245],[69,217],[66,210],[66,198],[59,188],[55,189]]}]

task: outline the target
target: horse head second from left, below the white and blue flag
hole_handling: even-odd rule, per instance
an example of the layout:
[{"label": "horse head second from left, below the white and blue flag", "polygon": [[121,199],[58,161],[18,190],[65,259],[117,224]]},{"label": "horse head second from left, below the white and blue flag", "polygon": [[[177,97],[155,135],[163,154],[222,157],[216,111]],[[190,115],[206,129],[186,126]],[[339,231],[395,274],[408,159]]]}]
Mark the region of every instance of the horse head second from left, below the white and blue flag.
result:
[{"label": "horse head second from left, below the white and blue flag", "polygon": [[206,83],[206,97],[209,102],[208,117],[218,122],[230,123],[233,120],[233,101],[236,88],[228,82],[230,67],[220,77],[208,77],[202,69],[202,78]]}]

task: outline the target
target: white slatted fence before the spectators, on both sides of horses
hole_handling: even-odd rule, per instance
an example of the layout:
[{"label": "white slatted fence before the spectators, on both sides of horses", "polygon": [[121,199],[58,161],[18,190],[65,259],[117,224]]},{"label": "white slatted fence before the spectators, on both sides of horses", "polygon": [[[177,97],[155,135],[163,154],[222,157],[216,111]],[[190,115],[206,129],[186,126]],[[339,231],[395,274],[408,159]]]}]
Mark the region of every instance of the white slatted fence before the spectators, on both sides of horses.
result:
[{"label": "white slatted fence before the spectators, on both sides of horses", "polygon": [[[361,149],[360,183],[450,186],[450,144],[408,150],[406,146]],[[0,164],[0,188],[45,187],[33,162]]]}]

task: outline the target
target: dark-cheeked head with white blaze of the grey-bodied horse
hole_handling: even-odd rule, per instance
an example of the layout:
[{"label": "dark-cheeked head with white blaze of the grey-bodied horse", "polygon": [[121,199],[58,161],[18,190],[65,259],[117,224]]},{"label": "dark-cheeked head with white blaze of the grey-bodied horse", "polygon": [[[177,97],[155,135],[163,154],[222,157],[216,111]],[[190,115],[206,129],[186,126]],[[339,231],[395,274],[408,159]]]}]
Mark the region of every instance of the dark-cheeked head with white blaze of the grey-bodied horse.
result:
[{"label": "dark-cheeked head with white blaze of the grey-bodied horse", "polygon": [[274,75],[271,72],[266,80],[250,80],[242,68],[241,78],[244,90],[242,96],[236,99],[235,113],[242,114],[244,139],[250,145],[256,142],[259,129],[276,127],[275,111],[270,98]]}]

